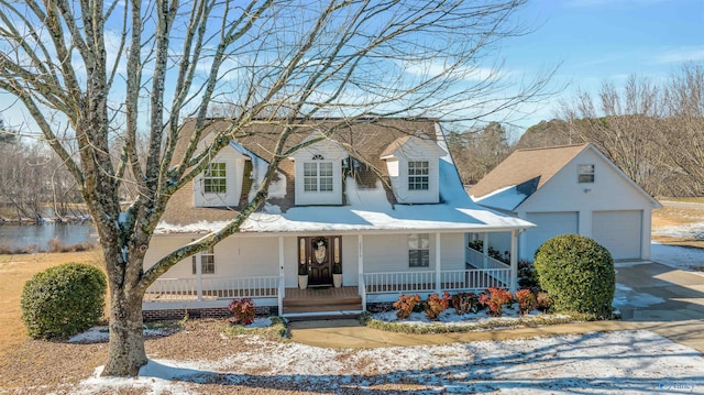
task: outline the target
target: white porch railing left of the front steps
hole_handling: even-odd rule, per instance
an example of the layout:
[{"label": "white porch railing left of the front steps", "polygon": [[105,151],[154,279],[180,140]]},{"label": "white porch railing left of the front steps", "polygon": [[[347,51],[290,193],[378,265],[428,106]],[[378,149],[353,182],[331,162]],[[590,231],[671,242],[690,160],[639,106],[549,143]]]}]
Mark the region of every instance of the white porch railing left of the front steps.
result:
[{"label": "white porch railing left of the front steps", "polygon": [[279,276],[160,278],[144,295],[144,301],[213,300],[222,298],[278,298]]}]

